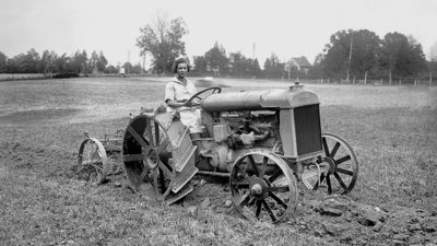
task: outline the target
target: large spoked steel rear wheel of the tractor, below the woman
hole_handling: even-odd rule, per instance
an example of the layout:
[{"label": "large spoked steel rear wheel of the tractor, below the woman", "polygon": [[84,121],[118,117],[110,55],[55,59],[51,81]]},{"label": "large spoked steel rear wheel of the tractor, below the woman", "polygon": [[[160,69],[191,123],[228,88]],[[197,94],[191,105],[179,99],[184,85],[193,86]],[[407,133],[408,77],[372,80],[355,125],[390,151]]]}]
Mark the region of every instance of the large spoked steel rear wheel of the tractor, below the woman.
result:
[{"label": "large spoked steel rear wheel of the tractor, below the woman", "polygon": [[147,189],[149,183],[158,200],[170,192],[175,168],[169,159],[173,148],[164,127],[152,116],[133,118],[123,134],[125,171],[134,191]]}]

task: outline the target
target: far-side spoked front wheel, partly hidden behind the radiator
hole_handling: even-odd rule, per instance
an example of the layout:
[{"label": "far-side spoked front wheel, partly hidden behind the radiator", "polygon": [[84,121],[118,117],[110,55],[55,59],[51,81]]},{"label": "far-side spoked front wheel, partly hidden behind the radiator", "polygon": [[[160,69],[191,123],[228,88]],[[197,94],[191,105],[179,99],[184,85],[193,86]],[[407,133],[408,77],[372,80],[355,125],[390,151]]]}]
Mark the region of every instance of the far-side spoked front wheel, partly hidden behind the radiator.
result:
[{"label": "far-side spoked front wheel, partly hidden behind the radiator", "polygon": [[303,183],[308,189],[327,194],[349,194],[358,177],[358,161],[353,149],[338,136],[322,134],[323,154],[317,165],[304,168]]}]

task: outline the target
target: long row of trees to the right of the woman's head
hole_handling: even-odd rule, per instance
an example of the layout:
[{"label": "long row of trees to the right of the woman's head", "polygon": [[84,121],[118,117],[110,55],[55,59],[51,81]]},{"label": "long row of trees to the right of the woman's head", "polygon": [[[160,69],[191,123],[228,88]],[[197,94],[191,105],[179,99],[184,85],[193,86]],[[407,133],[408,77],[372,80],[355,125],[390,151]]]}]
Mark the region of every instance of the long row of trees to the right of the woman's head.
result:
[{"label": "long row of trees to the right of the woman's head", "polygon": [[257,59],[246,58],[240,52],[226,56],[224,47],[217,43],[204,56],[194,57],[193,63],[194,71],[201,73],[271,79],[397,80],[437,74],[437,59],[427,61],[414,37],[389,33],[380,39],[368,30],[333,34],[312,65],[306,57],[281,61],[272,54],[261,69]]}]

